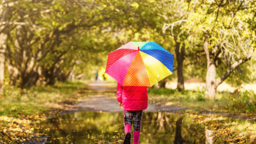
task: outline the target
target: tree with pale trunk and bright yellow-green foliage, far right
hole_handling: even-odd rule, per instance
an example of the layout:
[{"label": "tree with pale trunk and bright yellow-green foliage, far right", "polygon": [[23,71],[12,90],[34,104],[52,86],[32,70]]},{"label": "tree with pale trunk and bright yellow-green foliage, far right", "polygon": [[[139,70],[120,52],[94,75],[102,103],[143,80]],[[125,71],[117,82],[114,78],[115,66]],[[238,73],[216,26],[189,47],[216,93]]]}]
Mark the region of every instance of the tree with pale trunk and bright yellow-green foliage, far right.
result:
[{"label": "tree with pale trunk and bright yellow-green foliage, far right", "polygon": [[[243,2],[232,1],[233,4],[236,3],[238,8],[243,5]],[[205,95],[215,99],[217,87],[238,66],[252,58],[255,49],[253,48],[255,33],[248,30],[249,25],[244,17],[244,15],[250,17],[248,13],[236,11],[235,15],[232,15],[233,12],[231,11],[234,8],[227,10],[226,7],[217,8],[215,12],[209,13],[207,9],[209,11],[212,6],[215,6],[212,2],[203,1],[203,3],[199,3],[193,1],[192,4],[194,4],[192,10],[196,12],[189,16],[186,29],[195,31],[194,37],[202,37],[202,44],[207,57]],[[219,2],[219,5],[222,4],[224,4],[223,1]],[[219,11],[223,11],[222,16],[219,16]],[[217,79],[217,66],[224,64],[225,61],[227,63],[226,73],[222,73]]]}]

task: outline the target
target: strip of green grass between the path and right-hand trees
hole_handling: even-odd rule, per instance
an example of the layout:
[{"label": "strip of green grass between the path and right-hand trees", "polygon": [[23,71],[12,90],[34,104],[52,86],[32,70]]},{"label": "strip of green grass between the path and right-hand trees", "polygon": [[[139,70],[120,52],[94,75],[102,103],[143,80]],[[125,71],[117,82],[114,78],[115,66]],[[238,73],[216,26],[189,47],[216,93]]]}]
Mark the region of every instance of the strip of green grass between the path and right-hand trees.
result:
[{"label": "strip of green grass between the path and right-hand trees", "polygon": [[231,114],[253,114],[256,112],[256,94],[250,90],[243,92],[217,93],[216,100],[205,99],[204,90],[178,90],[149,88],[149,102],[188,107],[195,111],[228,112]]}]

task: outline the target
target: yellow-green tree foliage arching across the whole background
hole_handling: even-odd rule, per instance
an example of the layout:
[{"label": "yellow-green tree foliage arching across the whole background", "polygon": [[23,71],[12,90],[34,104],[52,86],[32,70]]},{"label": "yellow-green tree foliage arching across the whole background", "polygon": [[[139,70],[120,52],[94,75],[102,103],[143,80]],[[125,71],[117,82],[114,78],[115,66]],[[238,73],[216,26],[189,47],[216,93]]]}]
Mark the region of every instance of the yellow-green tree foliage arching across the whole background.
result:
[{"label": "yellow-green tree foliage arching across the whole background", "polygon": [[[245,45],[248,46],[255,41],[255,20],[252,16],[255,9],[250,8],[253,3],[248,3],[248,11],[238,9],[233,16],[231,10],[237,9],[239,4],[232,5],[234,1],[231,1],[226,7],[221,6],[218,9],[220,2],[18,1],[10,9],[9,20],[29,25],[22,25],[21,29],[15,25],[10,29],[8,61],[19,71],[21,65],[25,66],[25,70],[20,71],[24,73],[21,76],[22,81],[26,81],[23,79],[26,79],[31,69],[35,72],[42,69],[41,78],[49,74],[45,81],[58,77],[59,73],[66,78],[71,71],[75,71],[76,76],[83,74],[89,78],[92,76],[91,73],[106,66],[109,52],[129,41],[154,41],[173,54],[176,42],[180,42],[186,47],[183,69],[185,80],[197,78],[205,81],[207,65],[202,47],[204,33],[210,35],[211,50],[216,44],[231,44],[222,50],[222,60],[218,61],[218,76],[223,75],[223,71],[234,60],[244,57],[247,52]],[[173,28],[162,32],[164,23],[179,20],[185,21],[176,23]],[[17,35],[19,30],[21,34]],[[20,48],[17,48],[15,42],[19,42]],[[17,49],[22,49],[26,54],[17,54]],[[16,59],[16,55],[27,57]],[[25,63],[26,59],[28,63]],[[32,68],[29,68],[30,66]],[[248,67],[241,69],[247,71]],[[250,76],[241,75],[236,71],[235,76],[244,79],[245,83],[252,80]],[[228,81],[233,83],[235,79],[229,78]],[[241,85],[239,81],[235,83]]]}]

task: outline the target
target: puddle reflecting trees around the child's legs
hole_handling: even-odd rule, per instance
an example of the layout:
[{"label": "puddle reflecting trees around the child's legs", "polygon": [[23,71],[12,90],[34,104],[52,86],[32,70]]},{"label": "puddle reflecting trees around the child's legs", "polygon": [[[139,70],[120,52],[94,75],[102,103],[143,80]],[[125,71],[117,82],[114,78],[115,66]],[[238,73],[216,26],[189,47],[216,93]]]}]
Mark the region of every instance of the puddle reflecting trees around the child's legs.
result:
[{"label": "puddle reflecting trees around the child's legs", "polygon": [[[39,126],[40,133],[49,136],[47,143],[123,143],[125,136],[123,113],[80,111],[52,117]],[[143,112],[140,132],[140,143],[205,143],[204,126],[164,112]]]}]

